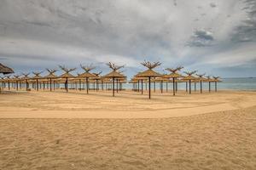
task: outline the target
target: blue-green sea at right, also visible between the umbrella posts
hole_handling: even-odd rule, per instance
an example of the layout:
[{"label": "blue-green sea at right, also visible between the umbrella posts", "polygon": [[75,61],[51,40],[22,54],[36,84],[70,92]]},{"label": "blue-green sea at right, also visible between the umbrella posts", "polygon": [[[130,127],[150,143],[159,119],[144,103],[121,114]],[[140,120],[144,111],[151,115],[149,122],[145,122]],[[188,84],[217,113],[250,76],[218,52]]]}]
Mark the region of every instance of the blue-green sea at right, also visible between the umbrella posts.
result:
[{"label": "blue-green sea at right, also visible between the umbrella posts", "polygon": [[[222,78],[222,82],[218,82],[217,86],[218,89],[225,89],[225,90],[256,90],[256,77],[252,78]],[[140,85],[141,86],[141,85]],[[184,82],[178,83],[178,89],[185,89],[186,84]],[[143,86],[145,88],[145,86]],[[154,84],[151,85],[152,89],[154,88]],[[131,84],[125,84],[124,88],[132,88]],[[155,84],[156,89],[160,89],[159,83]],[[195,84],[191,83],[191,88],[195,89]],[[207,90],[209,88],[208,82],[203,83],[203,89]],[[211,83],[211,88],[214,90],[215,83]],[[168,83],[168,89],[172,89],[172,82]],[[196,84],[196,89],[200,89],[200,84]],[[164,90],[166,90],[166,83],[164,83]]]}]

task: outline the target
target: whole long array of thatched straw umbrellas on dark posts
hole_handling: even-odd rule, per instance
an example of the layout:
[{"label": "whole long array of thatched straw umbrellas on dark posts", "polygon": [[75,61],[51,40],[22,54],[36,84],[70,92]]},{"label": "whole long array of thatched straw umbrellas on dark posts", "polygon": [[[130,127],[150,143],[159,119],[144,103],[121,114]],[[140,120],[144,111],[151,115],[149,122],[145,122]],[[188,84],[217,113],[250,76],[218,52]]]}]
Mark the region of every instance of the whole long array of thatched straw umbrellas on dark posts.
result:
[{"label": "whole long array of thatched straw umbrellas on dark posts", "polygon": [[[96,82],[96,90],[97,90],[98,82],[101,81],[102,89],[103,89],[103,83],[107,83],[107,84],[112,83],[112,90],[113,90],[113,96],[114,96],[115,90],[118,92],[119,88],[121,87],[121,84],[126,82],[125,75],[122,74],[122,71],[119,71],[121,68],[124,67],[124,65],[121,65],[121,66],[114,65],[113,63],[110,63],[110,62],[107,65],[109,66],[109,68],[112,71],[102,77],[100,77],[100,74],[102,72],[98,72],[98,73],[90,72],[93,69],[95,69],[95,67],[93,65],[80,65],[81,68],[84,70],[84,73],[81,73],[81,74],[78,73],[78,76],[76,76],[76,77],[70,73],[71,71],[74,71],[75,68],[67,69],[67,67],[59,65],[61,70],[64,71],[64,73],[59,77],[57,77],[55,75],[56,70],[47,69],[49,74],[46,75],[45,77],[40,76],[40,74],[42,72],[32,72],[34,74],[34,77],[28,77],[29,74],[23,74],[23,77],[15,76],[13,78],[10,78],[8,76],[8,77],[2,77],[2,79],[0,79],[0,82],[8,83],[8,84],[10,84],[10,82],[15,82],[17,90],[18,90],[19,82],[26,83],[26,90],[28,90],[29,82],[34,82],[36,84],[36,89],[38,91],[38,82],[45,82],[45,80],[46,80],[46,82],[49,83],[50,91],[52,91],[52,84],[54,85],[54,89],[55,89],[55,82],[63,82],[64,81],[65,89],[68,92],[68,81],[75,82],[76,84],[77,84],[77,82],[79,82],[79,90],[81,90],[81,83],[85,81],[86,92],[87,92],[87,94],[89,94],[90,82],[94,82],[94,83]],[[142,94],[143,94],[143,82],[144,83],[146,82],[146,84],[148,83],[148,98],[149,99],[151,99],[151,82],[154,82],[154,90],[155,90],[155,82],[160,82],[161,92],[163,89],[163,85],[162,85],[163,82],[166,82],[166,83],[172,82],[173,83],[173,95],[175,95],[175,93],[177,92],[177,82],[186,82],[186,90],[188,90],[187,83],[189,82],[189,94],[191,94],[191,82],[195,82],[195,83],[200,82],[201,83],[201,93],[202,93],[202,82],[209,82],[209,91],[211,89],[211,82],[215,82],[215,90],[217,91],[217,82],[219,82],[219,80],[218,80],[219,77],[213,77],[213,79],[211,79],[210,77],[206,78],[206,77],[204,77],[205,74],[202,74],[202,75],[197,74],[197,77],[194,77],[193,75],[195,74],[196,71],[184,72],[187,76],[183,76],[183,75],[177,73],[177,71],[181,71],[183,69],[183,67],[177,67],[175,69],[167,68],[166,70],[170,71],[171,73],[162,75],[153,70],[155,67],[160,65],[160,62],[151,63],[151,62],[144,61],[142,63],[142,65],[147,67],[148,70],[137,73],[137,75],[135,75],[131,79],[131,83],[133,83],[134,85],[138,85],[138,87],[139,87],[139,82],[141,82]],[[116,89],[114,87],[115,82],[117,85]],[[138,88],[138,91],[139,91],[139,88]]]}]

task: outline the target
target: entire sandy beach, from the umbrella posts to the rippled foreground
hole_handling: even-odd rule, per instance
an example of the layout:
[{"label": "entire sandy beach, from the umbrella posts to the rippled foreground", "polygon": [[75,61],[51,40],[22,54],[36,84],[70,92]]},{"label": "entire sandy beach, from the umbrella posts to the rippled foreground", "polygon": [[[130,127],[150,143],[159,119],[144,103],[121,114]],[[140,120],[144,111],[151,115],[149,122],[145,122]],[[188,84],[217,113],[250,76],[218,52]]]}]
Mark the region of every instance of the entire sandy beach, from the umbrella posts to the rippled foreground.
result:
[{"label": "entire sandy beach, from the umbrella posts to the rippled foreground", "polygon": [[0,169],[256,169],[255,101],[234,91],[1,94]]}]

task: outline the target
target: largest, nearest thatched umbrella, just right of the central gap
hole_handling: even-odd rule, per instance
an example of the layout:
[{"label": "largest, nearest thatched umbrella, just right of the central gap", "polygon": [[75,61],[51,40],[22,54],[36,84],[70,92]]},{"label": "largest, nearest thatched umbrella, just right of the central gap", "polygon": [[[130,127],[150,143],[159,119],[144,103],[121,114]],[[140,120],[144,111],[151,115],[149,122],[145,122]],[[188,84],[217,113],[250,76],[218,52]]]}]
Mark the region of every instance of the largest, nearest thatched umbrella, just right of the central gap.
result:
[{"label": "largest, nearest thatched umbrella, just right of the central gap", "polygon": [[138,73],[137,77],[148,77],[148,99],[151,99],[151,87],[150,87],[151,77],[161,77],[160,73],[153,71],[153,69],[161,64],[160,62],[151,63],[149,61],[144,61],[141,64],[147,67],[148,70]]}]

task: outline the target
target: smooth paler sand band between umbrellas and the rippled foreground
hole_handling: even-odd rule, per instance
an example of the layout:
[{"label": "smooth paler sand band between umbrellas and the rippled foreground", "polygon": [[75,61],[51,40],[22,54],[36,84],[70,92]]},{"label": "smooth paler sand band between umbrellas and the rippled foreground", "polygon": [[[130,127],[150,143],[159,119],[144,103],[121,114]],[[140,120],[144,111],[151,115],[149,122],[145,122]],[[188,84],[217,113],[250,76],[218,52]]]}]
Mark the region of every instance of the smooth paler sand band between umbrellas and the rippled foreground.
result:
[{"label": "smooth paler sand band between umbrellas and the rippled foreground", "polygon": [[20,92],[0,95],[0,118],[163,118],[232,111],[256,105],[256,92],[147,94],[121,92]]}]

